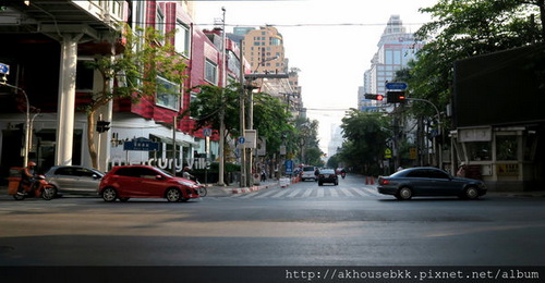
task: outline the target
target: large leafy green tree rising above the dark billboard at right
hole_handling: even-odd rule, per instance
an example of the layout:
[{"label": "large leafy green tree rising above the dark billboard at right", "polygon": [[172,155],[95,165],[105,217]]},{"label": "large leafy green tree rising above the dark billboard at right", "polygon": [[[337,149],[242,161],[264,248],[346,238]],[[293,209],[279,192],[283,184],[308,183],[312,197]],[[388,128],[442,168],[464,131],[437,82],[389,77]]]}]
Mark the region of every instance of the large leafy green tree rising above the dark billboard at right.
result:
[{"label": "large leafy green tree rising above the dark billboard at right", "polygon": [[[426,41],[419,51],[408,81],[411,96],[427,99],[444,109],[449,102],[452,63],[488,52],[543,42],[544,0],[439,0],[421,9],[434,21],[424,24],[416,37]],[[433,115],[433,110],[414,104]]]}]

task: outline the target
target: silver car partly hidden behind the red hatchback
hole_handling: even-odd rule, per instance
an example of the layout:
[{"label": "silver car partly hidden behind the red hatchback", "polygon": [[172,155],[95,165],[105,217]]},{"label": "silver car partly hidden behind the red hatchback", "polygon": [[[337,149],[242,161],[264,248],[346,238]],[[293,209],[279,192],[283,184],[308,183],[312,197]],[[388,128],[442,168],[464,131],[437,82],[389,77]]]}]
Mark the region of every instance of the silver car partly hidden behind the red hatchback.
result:
[{"label": "silver car partly hidden behind the red hatchback", "polygon": [[52,167],[46,172],[46,181],[55,186],[55,194],[96,195],[105,173],[86,167]]}]

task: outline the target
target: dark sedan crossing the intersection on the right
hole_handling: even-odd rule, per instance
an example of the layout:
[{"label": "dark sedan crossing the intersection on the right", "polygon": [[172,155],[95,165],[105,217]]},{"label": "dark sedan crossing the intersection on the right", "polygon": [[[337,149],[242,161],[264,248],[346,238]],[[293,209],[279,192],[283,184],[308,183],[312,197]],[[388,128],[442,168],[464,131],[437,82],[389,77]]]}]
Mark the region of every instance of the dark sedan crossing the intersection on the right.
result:
[{"label": "dark sedan crossing the intersection on the right", "polygon": [[455,177],[437,168],[404,169],[378,179],[378,193],[393,195],[398,199],[410,199],[413,196],[458,196],[476,199],[486,194],[482,181]]}]

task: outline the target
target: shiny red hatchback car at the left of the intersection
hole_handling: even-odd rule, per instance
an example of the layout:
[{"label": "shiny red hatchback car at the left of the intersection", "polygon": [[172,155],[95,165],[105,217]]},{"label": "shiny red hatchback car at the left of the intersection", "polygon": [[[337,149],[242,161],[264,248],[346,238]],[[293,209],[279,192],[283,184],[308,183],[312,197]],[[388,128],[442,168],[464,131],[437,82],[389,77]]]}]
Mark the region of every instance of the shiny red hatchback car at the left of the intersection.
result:
[{"label": "shiny red hatchback car at the left of the intersection", "polygon": [[105,201],[126,201],[130,198],[166,198],[168,201],[187,201],[197,198],[197,184],[175,177],[148,165],[114,167],[100,182],[98,195]]}]

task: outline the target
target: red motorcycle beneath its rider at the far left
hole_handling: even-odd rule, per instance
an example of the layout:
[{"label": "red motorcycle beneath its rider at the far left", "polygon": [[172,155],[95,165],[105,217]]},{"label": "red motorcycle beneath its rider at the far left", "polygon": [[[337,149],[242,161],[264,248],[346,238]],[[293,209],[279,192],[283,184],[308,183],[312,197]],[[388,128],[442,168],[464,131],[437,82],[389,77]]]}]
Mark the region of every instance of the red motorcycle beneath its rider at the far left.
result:
[{"label": "red motorcycle beneath its rider at the far left", "polygon": [[[12,168],[10,169],[9,177],[9,188],[8,194],[13,195],[16,200],[23,200],[27,197],[41,197],[45,200],[51,200],[55,197],[55,186],[46,181],[46,176],[37,175],[35,176],[35,182],[33,184],[21,184],[21,171],[23,169]],[[24,194],[17,194],[19,187],[23,186]]]}]

